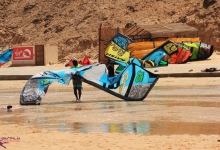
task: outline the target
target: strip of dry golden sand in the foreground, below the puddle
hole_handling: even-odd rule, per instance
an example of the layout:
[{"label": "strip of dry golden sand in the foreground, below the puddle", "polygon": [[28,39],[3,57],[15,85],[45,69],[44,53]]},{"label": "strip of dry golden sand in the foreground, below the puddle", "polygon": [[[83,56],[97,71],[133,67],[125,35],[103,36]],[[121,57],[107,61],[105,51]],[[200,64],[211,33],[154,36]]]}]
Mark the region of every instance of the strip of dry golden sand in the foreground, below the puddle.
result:
[{"label": "strip of dry golden sand in the foreground, below the puddle", "polygon": [[[1,137],[20,138],[4,144],[7,149],[80,150],[218,150],[219,135],[134,135],[117,133],[60,133],[29,129],[18,125],[1,126]],[[0,147],[4,149],[3,147]]]}]

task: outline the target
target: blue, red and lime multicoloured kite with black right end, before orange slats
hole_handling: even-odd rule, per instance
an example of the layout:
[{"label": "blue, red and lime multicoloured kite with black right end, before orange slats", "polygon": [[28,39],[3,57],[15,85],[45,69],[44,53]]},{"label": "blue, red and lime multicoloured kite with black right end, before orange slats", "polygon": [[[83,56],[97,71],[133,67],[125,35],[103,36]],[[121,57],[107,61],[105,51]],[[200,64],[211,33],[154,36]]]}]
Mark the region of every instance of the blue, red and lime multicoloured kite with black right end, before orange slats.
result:
[{"label": "blue, red and lime multicoloured kite with black right end, before orange slats", "polygon": [[161,46],[148,52],[141,60],[145,67],[183,64],[192,60],[204,60],[213,53],[214,47],[201,42],[175,43],[167,40]]}]

